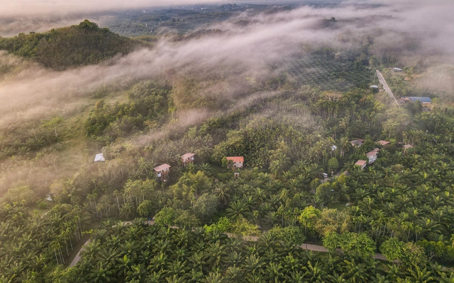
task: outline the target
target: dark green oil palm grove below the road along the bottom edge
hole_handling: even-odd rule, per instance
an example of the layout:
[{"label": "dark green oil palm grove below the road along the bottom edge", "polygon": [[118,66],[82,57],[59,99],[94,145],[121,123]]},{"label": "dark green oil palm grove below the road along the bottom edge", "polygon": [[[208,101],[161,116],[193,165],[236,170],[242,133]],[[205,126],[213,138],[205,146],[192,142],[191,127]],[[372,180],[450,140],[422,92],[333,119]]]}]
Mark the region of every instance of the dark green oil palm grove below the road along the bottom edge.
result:
[{"label": "dark green oil palm grove below the road along the bottom edge", "polygon": [[[389,272],[392,269],[393,272]],[[170,229],[140,221],[94,234],[82,261],[54,277],[59,282],[388,282],[420,272],[434,280],[449,277],[448,270],[416,265],[409,272],[387,262],[345,255],[307,253],[272,235],[258,242],[227,238],[218,231]],[[55,275],[54,275],[55,276]],[[216,279],[216,281],[214,281]],[[299,280],[299,281],[297,281]]]}]

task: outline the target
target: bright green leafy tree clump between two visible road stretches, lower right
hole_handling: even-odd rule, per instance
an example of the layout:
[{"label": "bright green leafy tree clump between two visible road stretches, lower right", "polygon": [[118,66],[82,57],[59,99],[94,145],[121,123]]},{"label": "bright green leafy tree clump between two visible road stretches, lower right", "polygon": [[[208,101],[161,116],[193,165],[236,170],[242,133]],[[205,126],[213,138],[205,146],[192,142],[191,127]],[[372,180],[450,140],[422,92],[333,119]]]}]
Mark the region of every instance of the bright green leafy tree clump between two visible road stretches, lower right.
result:
[{"label": "bright green leafy tree clump between two visible road stretches, lower right", "polygon": [[341,248],[343,253],[348,255],[372,257],[375,254],[375,242],[365,233],[336,233],[328,232],[323,238],[323,246],[328,250]]}]

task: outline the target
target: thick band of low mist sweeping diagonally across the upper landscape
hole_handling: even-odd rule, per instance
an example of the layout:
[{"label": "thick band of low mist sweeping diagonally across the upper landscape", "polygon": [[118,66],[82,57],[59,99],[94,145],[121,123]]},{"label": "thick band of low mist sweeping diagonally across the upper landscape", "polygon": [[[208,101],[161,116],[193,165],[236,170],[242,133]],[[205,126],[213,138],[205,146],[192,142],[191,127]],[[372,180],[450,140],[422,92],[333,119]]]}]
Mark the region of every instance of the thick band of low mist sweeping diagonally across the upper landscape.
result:
[{"label": "thick band of low mist sweeping diagonally across the upper landscape", "polygon": [[[132,2],[137,5],[143,3]],[[62,5],[74,3],[70,1]],[[80,1],[77,3],[84,6]],[[120,2],[114,1],[111,5],[115,3]],[[14,11],[16,5],[9,4],[8,11]],[[246,12],[233,21],[212,27],[223,30],[221,35],[184,42],[162,40],[153,50],[138,50],[114,59],[111,64],[62,72],[28,68],[21,74],[0,81],[0,127],[8,125],[18,116],[34,119],[52,112],[50,110],[66,110],[70,107],[68,102],[77,105],[79,96],[96,87],[128,79],[143,79],[169,70],[182,74],[194,70],[222,69],[226,74],[239,74],[238,77],[244,79],[245,76],[267,72],[270,63],[301,50],[302,45],[348,47],[350,43],[341,40],[346,33],[353,37],[377,37],[377,52],[380,48],[389,50],[395,45],[399,49],[400,45],[405,45],[406,42],[401,40],[403,37],[399,38],[405,33],[424,47],[419,52],[429,54],[441,50],[453,54],[454,26],[448,21],[453,9],[450,8],[453,4],[447,1],[436,1],[432,5],[383,2],[382,6],[375,8],[347,4],[338,8],[305,6],[293,11],[252,17]],[[338,28],[314,28],[321,19],[332,16],[338,19]],[[236,25],[238,19],[248,19],[250,24]],[[62,102],[65,104],[62,105]]]}]

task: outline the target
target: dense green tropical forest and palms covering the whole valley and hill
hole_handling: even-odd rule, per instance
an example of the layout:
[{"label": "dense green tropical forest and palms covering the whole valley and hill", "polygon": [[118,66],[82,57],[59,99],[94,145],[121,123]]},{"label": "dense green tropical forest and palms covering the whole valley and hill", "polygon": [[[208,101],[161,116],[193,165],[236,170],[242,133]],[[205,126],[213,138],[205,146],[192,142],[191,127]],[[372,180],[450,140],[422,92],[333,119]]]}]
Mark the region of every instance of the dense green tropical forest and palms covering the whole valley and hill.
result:
[{"label": "dense green tropical forest and palms covering the whole valley and hill", "polygon": [[[195,27],[236,8],[251,6],[128,21],[186,21],[153,34],[178,45],[216,38]],[[84,21],[0,38],[0,83],[30,64],[67,74],[159,48],[144,43],[149,31],[129,33],[145,37]],[[418,84],[433,66],[345,34],[345,45],[304,42],[260,71],[140,69],[65,96],[74,108],[17,112],[26,122],[0,127],[0,282],[454,282],[452,93]],[[396,98],[432,103],[398,103],[375,69]]]}]

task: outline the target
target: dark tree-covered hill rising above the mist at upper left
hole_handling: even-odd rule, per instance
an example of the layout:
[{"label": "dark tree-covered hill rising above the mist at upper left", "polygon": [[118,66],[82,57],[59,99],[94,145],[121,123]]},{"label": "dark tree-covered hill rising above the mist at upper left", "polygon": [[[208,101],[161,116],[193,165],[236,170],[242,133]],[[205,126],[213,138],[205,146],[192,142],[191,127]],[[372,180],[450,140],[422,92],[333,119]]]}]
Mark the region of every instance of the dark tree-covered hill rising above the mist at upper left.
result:
[{"label": "dark tree-covered hill rising above the mist at upper left", "polygon": [[127,54],[137,45],[137,41],[112,33],[108,28],[99,28],[88,20],[47,33],[0,37],[0,50],[33,59],[57,70],[97,64],[118,53]]}]

